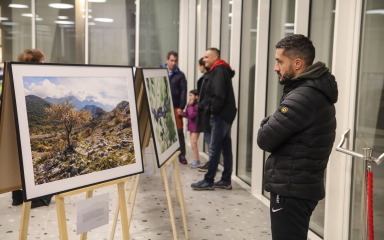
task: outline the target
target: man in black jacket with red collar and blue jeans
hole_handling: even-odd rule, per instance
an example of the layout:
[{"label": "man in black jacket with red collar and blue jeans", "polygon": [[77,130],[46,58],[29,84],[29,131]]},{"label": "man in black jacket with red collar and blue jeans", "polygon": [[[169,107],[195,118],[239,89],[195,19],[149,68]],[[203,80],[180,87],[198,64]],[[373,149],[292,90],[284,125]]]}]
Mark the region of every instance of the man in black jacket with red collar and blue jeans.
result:
[{"label": "man in black jacket with red collar and blue jeans", "polygon": [[[205,52],[204,63],[205,67],[209,68],[209,74],[205,77],[204,87],[200,91],[197,125],[203,126],[204,131],[209,127],[211,131],[209,164],[204,179],[191,184],[191,187],[195,190],[230,190],[233,164],[231,127],[237,112],[232,87],[235,72],[228,63],[220,59],[220,51],[217,48],[209,48]],[[221,152],[224,171],[221,179],[214,182]]]}]

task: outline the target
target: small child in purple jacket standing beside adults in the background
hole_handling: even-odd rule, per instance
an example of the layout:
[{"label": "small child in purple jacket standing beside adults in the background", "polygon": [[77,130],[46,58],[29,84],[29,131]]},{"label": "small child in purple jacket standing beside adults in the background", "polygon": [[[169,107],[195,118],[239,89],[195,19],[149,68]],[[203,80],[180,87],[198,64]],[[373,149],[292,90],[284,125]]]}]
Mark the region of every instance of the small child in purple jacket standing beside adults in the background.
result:
[{"label": "small child in purple jacket standing beside adults in the background", "polygon": [[191,137],[191,146],[195,160],[189,164],[190,167],[196,168],[200,165],[199,151],[197,150],[197,139],[199,138],[199,132],[196,132],[196,116],[197,116],[197,99],[199,94],[197,89],[193,89],[189,92],[189,102],[187,111],[183,112],[183,117],[188,119],[188,131]]}]

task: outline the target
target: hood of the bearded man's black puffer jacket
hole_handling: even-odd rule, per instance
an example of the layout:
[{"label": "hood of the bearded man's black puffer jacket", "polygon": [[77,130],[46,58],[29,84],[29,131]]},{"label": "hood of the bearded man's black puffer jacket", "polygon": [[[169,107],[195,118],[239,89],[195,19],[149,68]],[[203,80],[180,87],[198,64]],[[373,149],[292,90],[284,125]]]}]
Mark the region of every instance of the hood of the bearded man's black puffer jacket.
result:
[{"label": "hood of the bearded man's black puffer jacket", "polygon": [[335,76],[322,62],[317,62],[305,69],[298,76],[292,78],[291,82],[303,80],[301,86],[309,86],[322,92],[331,103],[337,102],[338,90]]}]

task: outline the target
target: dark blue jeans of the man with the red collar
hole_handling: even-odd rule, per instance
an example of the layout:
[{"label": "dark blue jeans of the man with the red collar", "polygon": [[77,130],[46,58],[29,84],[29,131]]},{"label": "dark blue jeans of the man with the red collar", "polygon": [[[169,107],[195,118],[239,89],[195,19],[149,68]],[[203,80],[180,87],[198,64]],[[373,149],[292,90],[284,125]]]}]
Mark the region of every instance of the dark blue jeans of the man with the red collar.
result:
[{"label": "dark blue jeans of the man with the red collar", "polygon": [[209,148],[208,172],[204,179],[213,183],[217,167],[220,162],[220,153],[223,152],[224,171],[221,180],[231,183],[232,175],[232,143],[231,143],[231,124],[228,124],[220,117],[211,117],[211,143]]}]

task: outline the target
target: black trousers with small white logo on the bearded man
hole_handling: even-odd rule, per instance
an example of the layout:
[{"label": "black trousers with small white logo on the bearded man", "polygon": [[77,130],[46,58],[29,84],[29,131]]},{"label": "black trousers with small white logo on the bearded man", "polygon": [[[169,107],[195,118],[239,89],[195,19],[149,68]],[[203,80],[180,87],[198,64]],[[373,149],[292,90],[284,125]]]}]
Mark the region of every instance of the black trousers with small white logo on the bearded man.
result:
[{"label": "black trousers with small white logo on the bearded man", "polygon": [[309,220],[318,201],[271,193],[270,215],[273,240],[307,240]]}]

